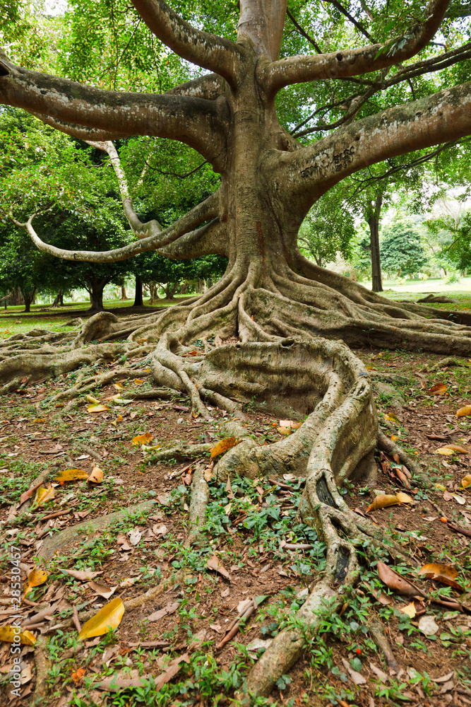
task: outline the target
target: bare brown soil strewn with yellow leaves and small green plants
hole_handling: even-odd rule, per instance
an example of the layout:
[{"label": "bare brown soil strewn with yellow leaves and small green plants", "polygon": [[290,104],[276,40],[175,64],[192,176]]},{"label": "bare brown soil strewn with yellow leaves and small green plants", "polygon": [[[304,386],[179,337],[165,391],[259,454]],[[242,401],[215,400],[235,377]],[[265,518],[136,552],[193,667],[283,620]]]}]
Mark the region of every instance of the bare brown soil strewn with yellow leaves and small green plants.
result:
[{"label": "bare brown soil strewn with yellow leaves and small green plants", "polygon": [[[349,506],[365,514],[378,492],[410,496],[410,503],[368,515],[407,549],[410,565],[396,565],[395,571],[426,598],[418,602],[388,589],[376,562],[364,558],[362,580],[341,615],[325,621],[321,640],[306,645],[303,660],[258,704],[465,707],[471,704],[471,486],[463,488],[462,480],[471,474],[471,416],[457,418],[456,412],[471,404],[470,361],[434,370],[443,356],[354,353],[372,375],[402,377],[390,388],[377,384],[378,419],[388,436],[415,455],[430,483],[424,487],[406,477],[405,487],[395,470],[400,464],[377,452],[376,484],[348,482],[342,493]],[[133,366],[145,368],[145,359]],[[213,422],[194,419],[184,396],[133,399],[137,391],[150,390],[141,376],[124,381],[123,390],[110,385],[93,394],[109,409],[88,411],[94,403],[83,397],[63,416],[64,406],[48,401],[74,376],[44,380],[1,399],[0,626],[11,624],[13,612],[11,546],[21,550],[23,591],[33,568],[47,578],[21,605],[23,630],[29,628],[36,643],[22,645],[19,697],[11,692],[13,644],[0,643],[0,703],[26,706],[42,698],[51,707],[230,704],[248,667],[293,620],[306,590],[323,572],[323,544],[296,519],[303,480],[290,475],[255,482],[234,478],[230,484],[210,480],[208,512],[200,519],[203,542],[184,547],[192,473],[199,463],[209,466],[209,453],[191,465],[191,460],[155,464],[151,448],[179,440],[216,444],[217,422],[225,414],[216,409]],[[439,383],[446,390],[429,395]],[[107,400],[118,392],[131,402],[116,406]],[[246,414],[258,443],[280,438],[278,419],[250,406]],[[147,445],[133,443],[145,433],[152,436]],[[465,453],[436,452],[447,444]],[[83,479],[54,484],[65,469],[90,474],[94,465],[104,474],[100,484]],[[210,479],[210,470],[206,473]],[[52,482],[55,496],[23,510],[20,496],[40,475],[43,487]],[[100,530],[59,534],[143,502],[152,505],[122,513]],[[59,539],[49,552],[54,537]],[[393,566],[388,556],[378,555],[378,561]],[[453,586],[418,575],[431,562],[455,568]],[[66,570],[99,574],[81,579]],[[78,642],[71,621],[75,609],[83,624],[116,597],[126,604],[158,586],[165,591],[126,610],[116,629]],[[218,648],[242,602],[252,603],[254,612]],[[411,615],[405,613],[414,602],[407,609]],[[49,613],[42,612],[47,607]],[[378,647],[375,621],[397,665]],[[41,656],[49,661],[48,672]],[[38,685],[38,670],[39,683],[44,678],[45,684]]]}]

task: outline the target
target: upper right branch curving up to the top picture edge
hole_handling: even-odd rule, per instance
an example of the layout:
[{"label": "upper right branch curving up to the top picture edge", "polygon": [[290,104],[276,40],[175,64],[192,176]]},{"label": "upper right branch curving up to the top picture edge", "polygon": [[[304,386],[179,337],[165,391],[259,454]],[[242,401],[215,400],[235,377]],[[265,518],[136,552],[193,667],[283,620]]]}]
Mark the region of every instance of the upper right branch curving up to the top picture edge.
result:
[{"label": "upper right branch curving up to the top picture edge", "polygon": [[[317,56],[299,55],[273,62],[266,69],[265,86],[275,94],[283,86],[326,78],[361,76],[386,69],[415,56],[430,42],[445,16],[450,0],[430,0],[424,23],[412,29],[410,36],[396,37],[386,44],[361,49],[347,49]],[[404,45],[400,40],[405,40]]]}]

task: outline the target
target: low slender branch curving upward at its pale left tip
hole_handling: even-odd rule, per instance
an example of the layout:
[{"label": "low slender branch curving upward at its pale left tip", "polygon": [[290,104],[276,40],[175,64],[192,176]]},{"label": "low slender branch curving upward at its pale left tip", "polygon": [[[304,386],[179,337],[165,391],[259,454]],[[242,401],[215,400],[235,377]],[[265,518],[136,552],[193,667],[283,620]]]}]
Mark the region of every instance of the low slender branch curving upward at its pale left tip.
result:
[{"label": "low slender branch curving upward at its pale left tip", "polygon": [[[39,235],[37,235],[35,228],[33,228],[32,226],[32,220],[36,214],[30,216],[26,223],[20,223],[19,221],[17,221],[16,218],[13,217],[13,214],[10,214],[10,218],[11,221],[13,221],[13,223],[15,224],[15,226],[18,226],[19,228],[25,228],[28,231],[32,242],[36,245],[37,248],[39,248],[39,250],[44,253],[54,255],[54,257],[59,257],[63,260],[72,260],[74,262],[106,263],[117,262],[119,260],[127,260],[133,257],[134,255],[138,255],[138,253],[148,252],[149,250],[158,250],[158,252],[161,252],[162,255],[167,255],[167,253],[165,253],[163,250],[165,246],[173,244],[175,241],[181,239],[182,237],[186,239],[183,243],[193,244],[194,240],[198,240],[198,238],[201,238],[201,235],[203,235],[203,230],[205,228],[207,229],[210,224],[208,224],[207,226],[203,226],[202,228],[192,230],[191,232],[190,229],[196,228],[201,223],[204,223],[210,218],[217,216],[218,213],[219,193],[215,192],[215,194],[212,194],[210,197],[208,197],[208,199],[202,201],[201,204],[195,206],[195,208],[189,211],[188,214],[185,214],[184,216],[179,218],[178,221],[175,221],[172,226],[169,226],[169,228],[162,231],[162,233],[154,233],[148,238],[143,238],[142,240],[138,240],[134,243],[130,243],[129,245],[125,245],[122,248],[115,248],[114,250],[104,250],[97,252],[88,250],[64,250],[63,248],[58,248],[54,245],[49,245],[49,243],[44,243],[44,241],[40,239]],[[213,221],[211,223],[213,223]],[[149,223],[143,223],[141,224],[141,228],[148,228],[148,230],[151,230],[153,228],[152,224],[152,221],[150,221]],[[204,231],[204,233],[206,232]],[[181,244],[180,247],[183,247],[183,245]],[[210,252],[220,252],[219,245],[217,245],[217,248],[219,248],[219,250]],[[177,252],[177,247],[175,247],[174,250],[175,252]],[[173,256],[172,252],[173,250],[169,249],[169,257],[179,257]],[[193,255],[189,255],[186,257],[193,257]]]}]

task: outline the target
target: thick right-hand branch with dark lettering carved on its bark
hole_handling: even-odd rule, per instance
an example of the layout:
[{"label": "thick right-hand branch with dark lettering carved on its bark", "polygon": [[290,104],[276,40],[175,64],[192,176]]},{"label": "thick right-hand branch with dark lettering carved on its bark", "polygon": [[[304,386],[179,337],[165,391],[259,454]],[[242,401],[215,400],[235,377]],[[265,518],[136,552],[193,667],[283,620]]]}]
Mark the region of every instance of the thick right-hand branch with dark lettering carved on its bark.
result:
[{"label": "thick right-hand branch with dark lettering carved on its bark", "polygon": [[278,153],[267,160],[266,169],[273,176],[278,164],[280,179],[292,189],[287,199],[297,197],[301,213],[358,170],[470,133],[471,83],[463,83],[362,118],[297,152]]}]

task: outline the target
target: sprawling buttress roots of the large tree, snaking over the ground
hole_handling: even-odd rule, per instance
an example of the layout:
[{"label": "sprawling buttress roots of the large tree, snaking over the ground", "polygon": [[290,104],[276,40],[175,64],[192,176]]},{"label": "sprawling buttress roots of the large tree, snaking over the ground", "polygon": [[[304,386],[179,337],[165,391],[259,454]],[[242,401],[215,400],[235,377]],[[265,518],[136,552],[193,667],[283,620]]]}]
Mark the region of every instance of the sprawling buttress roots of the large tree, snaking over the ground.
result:
[{"label": "sprawling buttress roots of the large tree, snaking over the ground", "polygon": [[[101,312],[74,334],[33,329],[4,340],[0,348],[0,393],[83,364],[123,361],[110,373],[83,378],[79,372],[73,387],[56,396],[67,402],[66,411],[84,392],[93,394],[112,380],[138,375],[126,362],[149,354],[155,392],[148,395],[165,398],[172,390],[186,392],[193,414],[204,419],[211,416],[208,405],[229,413],[227,436],[241,441],[215,464],[215,478],[225,481],[239,474],[256,479],[286,472],[306,478],[299,518],[325,542],[326,572],[299,609],[297,621],[276,636],[254,665],[246,689],[237,695],[243,704],[270,694],[316,636],[326,612],[344,604],[359,575],[356,548],[363,545],[374,552],[386,547],[375,526],[352,513],[338,492],[342,481],[365,472],[378,445],[369,373],[345,344],[462,356],[471,351],[470,315],[390,303],[322,271],[324,284],[321,269],[301,258],[296,265],[297,271],[273,271],[269,278],[255,268],[234,266],[200,298],[161,314],[118,319]],[[229,337],[238,342],[222,344]],[[194,354],[196,340],[203,342],[205,354]],[[259,446],[247,436],[242,402],[302,425],[278,443]],[[390,440],[383,444],[390,445]],[[157,451],[154,459],[198,457],[208,446],[182,444]],[[403,457],[406,465],[407,459]],[[200,469],[193,476],[188,544],[201,542],[198,518],[207,502]],[[391,544],[388,549],[400,552]]]}]

